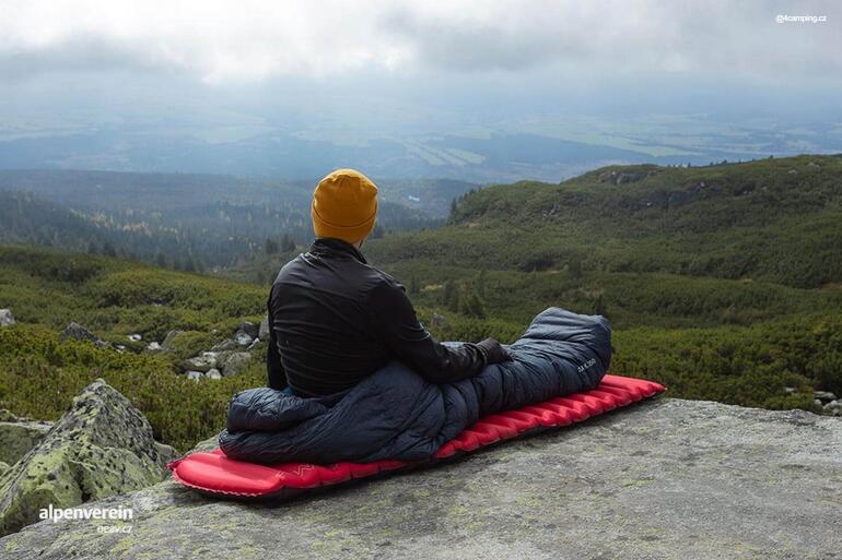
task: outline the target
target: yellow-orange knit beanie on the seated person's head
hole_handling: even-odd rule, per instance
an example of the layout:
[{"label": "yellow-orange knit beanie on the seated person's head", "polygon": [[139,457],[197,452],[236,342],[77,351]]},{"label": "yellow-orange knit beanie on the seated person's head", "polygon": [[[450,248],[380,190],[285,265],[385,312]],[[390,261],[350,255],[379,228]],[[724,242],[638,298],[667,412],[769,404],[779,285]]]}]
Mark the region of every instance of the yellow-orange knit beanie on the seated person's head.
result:
[{"label": "yellow-orange knit beanie on the seated person's head", "polygon": [[377,216],[377,187],[360,171],[337,169],[313,192],[313,230],[355,243],[367,236]]}]

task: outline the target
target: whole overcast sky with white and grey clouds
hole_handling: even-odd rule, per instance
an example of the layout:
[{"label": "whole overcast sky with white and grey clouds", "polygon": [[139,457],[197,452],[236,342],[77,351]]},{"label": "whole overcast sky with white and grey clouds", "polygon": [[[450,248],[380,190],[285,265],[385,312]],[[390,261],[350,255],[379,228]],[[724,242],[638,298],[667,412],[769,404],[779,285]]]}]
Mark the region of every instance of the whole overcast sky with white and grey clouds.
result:
[{"label": "whole overcast sky with white and grey clouds", "polygon": [[842,93],[840,5],[0,0],[0,93],[14,114],[202,95],[315,110],[346,93],[416,111],[528,112],[548,99],[692,111],[723,98],[811,110]]}]

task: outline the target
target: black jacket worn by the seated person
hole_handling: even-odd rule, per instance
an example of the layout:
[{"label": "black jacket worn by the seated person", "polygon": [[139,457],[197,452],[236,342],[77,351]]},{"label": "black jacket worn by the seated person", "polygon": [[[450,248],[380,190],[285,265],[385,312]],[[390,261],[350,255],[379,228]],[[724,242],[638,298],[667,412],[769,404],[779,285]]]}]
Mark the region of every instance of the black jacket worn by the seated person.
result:
[{"label": "black jacket worn by the seated person", "polygon": [[317,239],[269,294],[269,386],[303,396],[354,386],[398,359],[434,383],[479,373],[496,343],[447,347],[418,321],[404,286],[355,247]]}]

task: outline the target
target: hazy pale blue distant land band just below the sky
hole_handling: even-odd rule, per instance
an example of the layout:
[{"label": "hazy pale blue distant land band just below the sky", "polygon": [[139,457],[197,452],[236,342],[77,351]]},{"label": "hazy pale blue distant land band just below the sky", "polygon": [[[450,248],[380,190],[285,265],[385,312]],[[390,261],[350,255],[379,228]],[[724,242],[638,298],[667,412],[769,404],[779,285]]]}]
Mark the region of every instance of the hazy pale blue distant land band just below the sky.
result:
[{"label": "hazy pale blue distant land band just below the sky", "polygon": [[[560,131],[563,132],[564,127]],[[376,134],[353,143],[335,142],[329,135],[321,138],[323,134],[324,131],[312,136],[271,130],[247,138],[209,142],[192,134],[169,131],[137,134],[122,128],[79,130],[62,135],[0,139],[0,169],[211,172],[289,180],[320,177],[331,168],[353,166],[378,177],[452,177],[487,182],[524,177],[557,179],[613,162],[666,165],[790,153],[788,146],[776,145],[764,134],[758,135],[757,131],[746,131],[747,135],[757,139],[752,145],[732,143],[722,147],[693,145],[691,148],[673,144],[650,146],[644,139],[629,141],[622,136],[578,141],[556,138],[552,132],[547,135],[491,129],[480,134],[407,136],[397,132]]]}]

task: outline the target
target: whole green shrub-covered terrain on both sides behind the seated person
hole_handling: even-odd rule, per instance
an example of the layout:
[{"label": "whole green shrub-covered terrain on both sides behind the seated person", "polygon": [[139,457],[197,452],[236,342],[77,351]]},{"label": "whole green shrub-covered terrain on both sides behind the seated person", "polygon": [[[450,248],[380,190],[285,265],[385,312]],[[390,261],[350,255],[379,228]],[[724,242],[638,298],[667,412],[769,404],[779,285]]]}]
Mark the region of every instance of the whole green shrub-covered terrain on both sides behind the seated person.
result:
[{"label": "whole green shrub-covered terrain on both sides behind the seated person", "polygon": [[[616,373],[666,383],[676,397],[820,413],[827,401],[814,391],[842,393],[840,186],[838,156],[615,166],[558,184],[466,189],[440,227],[387,229],[364,253],[406,286],[440,339],[512,342],[550,306],[599,313],[615,327]],[[54,208],[69,202],[57,191]],[[126,200],[114,196],[118,212]],[[65,240],[98,231],[68,215],[43,211],[31,224]],[[7,242],[20,216],[4,222]],[[259,323],[274,273],[308,242],[303,229],[285,242],[276,233],[267,251],[257,239],[271,219],[261,224],[253,252],[207,274],[12,238],[0,249],[0,308],[16,321],[0,330],[0,408],[55,419],[103,377],[161,441],[184,450],[212,436],[229,396],[265,383],[265,342],[221,379],[188,379],[184,361]],[[201,237],[189,231],[179,233],[188,247]],[[70,322],[107,346],[61,342]]]}]

